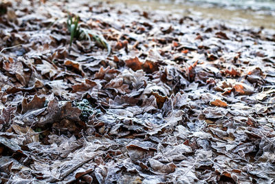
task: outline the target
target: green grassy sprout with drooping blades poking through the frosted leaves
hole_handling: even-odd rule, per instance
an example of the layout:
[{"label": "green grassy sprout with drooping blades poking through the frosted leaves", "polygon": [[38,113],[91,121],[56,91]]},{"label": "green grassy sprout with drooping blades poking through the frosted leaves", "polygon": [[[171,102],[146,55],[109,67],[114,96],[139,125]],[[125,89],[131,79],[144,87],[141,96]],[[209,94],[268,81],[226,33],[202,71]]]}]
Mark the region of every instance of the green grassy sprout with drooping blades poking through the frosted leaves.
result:
[{"label": "green grassy sprout with drooping blades poking through the frosted leaves", "polygon": [[100,46],[101,48],[106,48],[108,50],[107,55],[109,55],[111,52],[111,46],[109,45],[107,40],[104,39],[102,35],[94,32],[93,30],[89,30],[87,28],[80,28],[78,22],[79,22],[79,17],[73,18],[69,15],[67,19],[67,28],[71,34],[69,45],[72,46],[72,41],[74,39],[78,39],[78,40],[86,39],[86,40],[89,40],[89,42],[91,42],[91,38],[92,38],[94,41],[96,41],[98,46]]}]

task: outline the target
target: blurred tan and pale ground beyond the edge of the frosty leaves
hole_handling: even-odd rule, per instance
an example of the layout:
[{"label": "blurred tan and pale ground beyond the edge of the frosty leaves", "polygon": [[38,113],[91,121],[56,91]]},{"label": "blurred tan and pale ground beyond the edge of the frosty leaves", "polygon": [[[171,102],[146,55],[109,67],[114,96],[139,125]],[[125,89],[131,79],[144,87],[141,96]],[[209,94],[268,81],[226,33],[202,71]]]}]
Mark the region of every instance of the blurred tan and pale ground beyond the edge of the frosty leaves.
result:
[{"label": "blurred tan and pale ground beyond the edge of the frosty leaves", "polygon": [[172,11],[232,25],[275,30],[275,0],[108,0],[144,10]]}]

